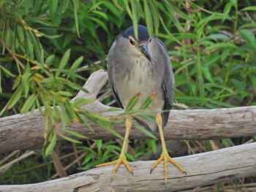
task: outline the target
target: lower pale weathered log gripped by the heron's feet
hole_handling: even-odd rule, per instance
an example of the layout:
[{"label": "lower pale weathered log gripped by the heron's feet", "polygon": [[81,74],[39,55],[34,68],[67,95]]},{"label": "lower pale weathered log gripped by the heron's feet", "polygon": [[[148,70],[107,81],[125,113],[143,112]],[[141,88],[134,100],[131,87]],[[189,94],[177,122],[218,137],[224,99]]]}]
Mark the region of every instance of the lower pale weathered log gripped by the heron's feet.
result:
[{"label": "lower pale weathered log gripped by the heron's feet", "polygon": [[113,166],[105,166],[43,183],[0,185],[0,191],[179,191],[256,175],[256,142],[174,159],[187,175],[168,164],[166,188],[162,163],[150,174],[154,161],[137,161],[130,163],[134,177],[121,165],[112,183]]}]

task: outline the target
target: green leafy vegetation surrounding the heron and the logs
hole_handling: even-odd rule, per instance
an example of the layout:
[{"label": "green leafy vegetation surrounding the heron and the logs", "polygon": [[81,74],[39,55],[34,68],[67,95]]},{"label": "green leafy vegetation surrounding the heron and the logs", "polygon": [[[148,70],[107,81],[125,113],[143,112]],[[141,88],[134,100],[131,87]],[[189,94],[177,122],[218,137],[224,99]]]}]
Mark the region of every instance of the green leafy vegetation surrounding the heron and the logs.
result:
[{"label": "green leafy vegetation surrounding the heron and the logs", "polygon": [[[64,131],[72,121],[87,126],[89,120],[110,130],[110,119],[81,110],[83,104],[93,100],[71,103],[70,99],[83,90],[91,72],[106,69],[105,57],[111,43],[122,30],[136,23],[148,26],[150,34],[162,39],[169,50],[176,78],[176,109],[255,105],[255,22],[256,7],[249,0],[0,0],[0,116],[29,111],[33,114],[35,109],[45,107],[40,110],[49,123],[45,127],[44,156],[56,145],[56,122],[61,121],[59,128]],[[108,96],[102,102],[112,100]],[[59,155],[65,156],[61,160],[65,166],[81,157],[81,164],[72,164],[68,174],[78,172],[78,167],[90,169],[116,159],[121,151],[118,139],[80,142],[72,138],[65,137],[78,144],[64,142],[58,147]],[[212,150],[255,139],[186,143],[194,151],[200,147],[202,151],[202,147]],[[157,152],[157,144],[155,140],[132,141],[127,158],[147,159]],[[1,154],[0,162],[9,154]],[[48,180],[55,173],[50,161],[51,157],[42,155],[26,158],[2,174],[0,183]],[[220,183],[217,190],[237,183]]]}]

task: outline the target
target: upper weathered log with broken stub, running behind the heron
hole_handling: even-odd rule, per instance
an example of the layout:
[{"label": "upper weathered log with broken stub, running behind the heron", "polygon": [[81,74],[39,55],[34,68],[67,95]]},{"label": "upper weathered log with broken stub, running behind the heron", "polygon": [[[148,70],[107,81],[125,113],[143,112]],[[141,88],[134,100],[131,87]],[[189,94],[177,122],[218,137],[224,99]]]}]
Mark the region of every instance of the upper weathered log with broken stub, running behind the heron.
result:
[{"label": "upper weathered log with broken stub, running behind the heron", "polygon": [[[99,70],[91,74],[84,87],[90,93],[80,91],[75,97],[96,98],[102,86],[107,82],[107,73]],[[74,99],[75,99],[74,98]],[[110,107],[98,100],[84,106],[91,112],[100,112],[105,116],[117,115],[121,111],[110,111]],[[44,142],[43,128],[45,120],[39,111],[29,115],[11,115],[0,118],[0,153],[11,150],[40,150]],[[90,123],[91,131],[80,123],[72,123],[70,129],[90,139],[115,138],[105,128]],[[124,135],[124,124],[113,125],[115,131]],[[222,139],[256,135],[256,107],[234,107],[214,110],[171,110],[165,127],[165,139]],[[65,133],[64,133],[65,134]],[[159,134],[155,133],[157,137]],[[148,138],[145,134],[132,128],[130,139]],[[61,138],[58,138],[59,140]]]}]

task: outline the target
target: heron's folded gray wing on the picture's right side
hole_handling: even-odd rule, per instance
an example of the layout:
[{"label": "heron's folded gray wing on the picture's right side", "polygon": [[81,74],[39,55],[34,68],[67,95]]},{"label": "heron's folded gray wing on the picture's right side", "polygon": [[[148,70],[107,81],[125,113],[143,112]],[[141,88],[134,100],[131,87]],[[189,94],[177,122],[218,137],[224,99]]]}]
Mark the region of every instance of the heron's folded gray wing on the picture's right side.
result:
[{"label": "heron's folded gray wing on the picture's right side", "polygon": [[173,75],[173,69],[172,65],[170,63],[170,58],[167,52],[167,48],[165,47],[164,43],[155,37],[157,39],[158,45],[160,46],[160,49],[162,50],[161,56],[163,57],[163,61],[165,61],[165,64],[163,64],[165,69],[165,74],[163,77],[163,92],[165,94],[165,104],[164,104],[164,111],[162,112],[162,126],[163,128],[166,126],[169,115],[170,115],[170,109],[173,106],[173,97],[174,97],[174,75]]}]

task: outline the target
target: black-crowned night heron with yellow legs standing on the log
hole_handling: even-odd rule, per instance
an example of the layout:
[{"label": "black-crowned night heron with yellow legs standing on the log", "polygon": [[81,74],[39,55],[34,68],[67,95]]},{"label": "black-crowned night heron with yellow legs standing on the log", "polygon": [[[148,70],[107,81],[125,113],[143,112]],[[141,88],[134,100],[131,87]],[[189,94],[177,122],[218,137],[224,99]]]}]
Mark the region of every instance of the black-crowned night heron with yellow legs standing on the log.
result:
[{"label": "black-crowned night heron with yellow legs standing on the log", "polygon": [[[170,158],[165,147],[163,129],[173,105],[174,76],[170,58],[163,42],[157,37],[150,37],[145,26],[138,25],[138,39],[135,38],[133,26],[127,28],[118,35],[110,47],[108,78],[116,101],[124,109],[127,108],[130,99],[138,93],[140,93],[140,99],[133,107],[134,110],[138,110],[151,93],[155,95],[146,111],[154,112],[156,120],[139,119],[139,122],[151,131],[157,131],[158,128],[161,137],[162,155],[152,166],[151,172],[161,161],[164,161],[165,185],[167,185],[167,162],[186,173],[176,161]],[[111,176],[112,180],[121,164],[124,164],[127,170],[132,173],[125,156],[131,127],[132,120],[127,118],[127,130],[119,158],[116,161],[97,166],[116,164]]]}]

